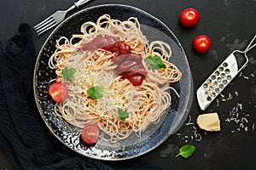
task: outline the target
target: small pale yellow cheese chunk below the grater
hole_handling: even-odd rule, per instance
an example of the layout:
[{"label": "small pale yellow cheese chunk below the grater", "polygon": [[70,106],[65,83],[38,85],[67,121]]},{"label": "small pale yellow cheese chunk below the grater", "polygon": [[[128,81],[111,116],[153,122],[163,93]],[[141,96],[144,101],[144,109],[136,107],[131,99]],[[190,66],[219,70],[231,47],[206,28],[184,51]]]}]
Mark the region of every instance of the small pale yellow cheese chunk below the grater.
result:
[{"label": "small pale yellow cheese chunk below the grater", "polygon": [[203,130],[220,131],[220,122],[217,112],[199,115],[197,117],[196,123]]}]

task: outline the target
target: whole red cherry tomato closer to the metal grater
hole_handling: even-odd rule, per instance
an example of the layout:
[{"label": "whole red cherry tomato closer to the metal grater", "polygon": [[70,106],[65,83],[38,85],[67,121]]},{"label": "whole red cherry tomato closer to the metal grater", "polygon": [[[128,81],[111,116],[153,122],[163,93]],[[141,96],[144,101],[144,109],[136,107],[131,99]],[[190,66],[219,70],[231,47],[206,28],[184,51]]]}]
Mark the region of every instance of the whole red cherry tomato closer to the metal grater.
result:
[{"label": "whole red cherry tomato closer to the metal grater", "polygon": [[207,37],[205,35],[195,37],[193,41],[195,51],[198,53],[206,53],[211,48],[211,44],[212,41],[210,37]]}]

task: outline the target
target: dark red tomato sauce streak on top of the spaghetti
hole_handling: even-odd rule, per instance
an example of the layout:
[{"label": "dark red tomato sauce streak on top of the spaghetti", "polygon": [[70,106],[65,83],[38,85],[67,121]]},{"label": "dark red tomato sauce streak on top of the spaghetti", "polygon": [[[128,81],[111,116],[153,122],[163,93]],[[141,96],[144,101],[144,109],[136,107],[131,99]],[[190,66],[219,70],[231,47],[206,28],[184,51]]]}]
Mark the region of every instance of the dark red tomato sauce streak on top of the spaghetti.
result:
[{"label": "dark red tomato sauce streak on top of the spaghetti", "polygon": [[117,74],[127,78],[133,86],[140,86],[144,78],[147,76],[143,66],[143,56],[140,54],[132,54],[131,47],[123,41],[118,41],[116,37],[96,37],[91,42],[87,42],[82,46],[82,50],[95,50],[96,48],[105,49],[113,53],[112,61],[114,65],[118,65],[115,69]]}]

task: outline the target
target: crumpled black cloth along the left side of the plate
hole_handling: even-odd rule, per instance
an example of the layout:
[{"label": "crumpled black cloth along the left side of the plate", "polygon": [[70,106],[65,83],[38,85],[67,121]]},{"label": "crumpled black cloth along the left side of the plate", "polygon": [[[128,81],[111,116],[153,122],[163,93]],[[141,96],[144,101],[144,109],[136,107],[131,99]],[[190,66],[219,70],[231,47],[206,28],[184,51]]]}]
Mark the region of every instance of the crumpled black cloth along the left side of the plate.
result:
[{"label": "crumpled black cloth along the left side of the plate", "polygon": [[107,163],[63,151],[33,98],[35,61],[29,25],[20,24],[10,40],[0,38],[0,148],[15,169],[160,169],[140,160],[122,167],[122,162]]}]

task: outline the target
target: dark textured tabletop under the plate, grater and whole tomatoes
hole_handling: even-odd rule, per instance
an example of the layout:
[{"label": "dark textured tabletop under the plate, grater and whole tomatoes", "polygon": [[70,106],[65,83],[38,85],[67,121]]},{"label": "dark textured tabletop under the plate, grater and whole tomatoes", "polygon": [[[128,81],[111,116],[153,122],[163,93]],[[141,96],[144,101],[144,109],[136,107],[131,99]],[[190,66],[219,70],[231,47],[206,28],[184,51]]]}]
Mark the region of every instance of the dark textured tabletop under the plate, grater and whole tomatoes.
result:
[{"label": "dark textured tabletop under the plate, grater and whole tomatoes", "polygon": [[[0,35],[1,37],[12,37],[20,22],[26,22],[34,26],[40,20],[44,20],[59,8],[68,8],[73,2],[70,0],[9,0],[0,3]],[[256,34],[256,2],[254,0],[216,0],[194,2],[184,1],[153,1],[153,0],[95,0],[86,7],[104,3],[122,3],[142,8],[162,20],[183,45],[184,51],[189,59],[195,90],[215,70],[215,68],[235,49],[244,49],[251,38]],[[197,26],[185,29],[178,23],[178,16],[184,8],[193,7],[198,9],[201,20]],[[85,8],[85,6],[84,6]],[[122,12],[119,11],[121,14]],[[38,37],[33,32],[33,40],[36,51],[42,47],[48,31]],[[212,48],[207,54],[196,54],[192,48],[192,41],[197,35],[207,34],[212,38]],[[189,111],[192,122],[201,113],[217,111],[221,121],[222,130],[218,133],[205,133],[197,128],[196,133],[201,133],[202,139],[195,139],[195,128],[183,125],[178,131],[179,135],[172,135],[163,144],[150,151],[144,156],[129,161],[118,161],[104,163],[111,167],[130,167],[135,164],[154,165],[162,169],[255,169],[256,156],[256,49],[248,53],[249,65],[242,71],[240,77],[236,77],[232,84],[223,92],[224,99],[219,105],[213,102],[207,111],[200,108],[193,93],[193,104]],[[237,92],[237,93],[236,93]],[[233,96],[229,98],[229,94]],[[238,96],[236,95],[238,94]],[[223,100],[224,100],[223,99]],[[237,103],[242,104],[243,111],[240,116],[247,116],[247,129],[239,127],[236,122],[230,120],[230,111]],[[244,113],[244,114],[242,114]],[[240,131],[238,130],[240,129]],[[187,136],[189,138],[187,138]],[[193,139],[191,136],[194,136]],[[53,138],[54,139],[54,138]],[[189,159],[175,157],[178,148],[183,144],[195,144],[196,150]],[[63,153],[78,157],[72,150],[63,146]],[[4,154],[0,155],[0,168],[11,169]]]}]

